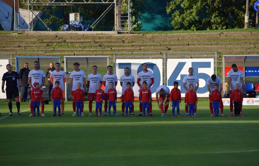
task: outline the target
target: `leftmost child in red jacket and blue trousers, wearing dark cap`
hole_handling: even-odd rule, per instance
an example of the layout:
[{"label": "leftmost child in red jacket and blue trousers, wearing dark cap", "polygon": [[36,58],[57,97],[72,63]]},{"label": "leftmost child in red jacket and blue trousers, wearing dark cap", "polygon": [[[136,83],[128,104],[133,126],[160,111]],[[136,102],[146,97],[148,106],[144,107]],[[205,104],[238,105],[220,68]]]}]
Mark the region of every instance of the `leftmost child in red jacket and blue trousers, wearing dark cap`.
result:
[{"label": "leftmost child in red jacket and blue trousers, wearing dark cap", "polygon": [[35,112],[36,112],[36,108],[37,108],[37,114],[38,117],[40,116],[40,99],[43,96],[43,93],[40,91],[39,86],[40,84],[35,82],[33,83],[33,86],[35,87],[32,90],[32,102],[33,102],[33,117],[35,117]]}]

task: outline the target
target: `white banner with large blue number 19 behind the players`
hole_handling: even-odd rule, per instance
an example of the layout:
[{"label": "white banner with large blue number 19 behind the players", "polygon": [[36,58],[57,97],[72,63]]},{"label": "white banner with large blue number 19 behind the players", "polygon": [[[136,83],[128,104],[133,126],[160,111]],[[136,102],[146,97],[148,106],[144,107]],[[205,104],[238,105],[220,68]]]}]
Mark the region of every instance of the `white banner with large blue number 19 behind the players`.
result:
[{"label": "white banner with large blue number 19 behind the players", "polygon": [[124,74],[126,67],[130,68],[130,74],[135,78],[134,96],[139,97],[140,88],[137,85],[137,76],[143,70],[142,63],[147,63],[148,70],[154,74],[154,84],[150,90],[152,97],[156,97],[156,89],[162,85],[163,59],[116,59],[116,75],[118,77],[118,85],[116,86],[117,97],[121,97],[122,87],[120,86],[119,78]]}]

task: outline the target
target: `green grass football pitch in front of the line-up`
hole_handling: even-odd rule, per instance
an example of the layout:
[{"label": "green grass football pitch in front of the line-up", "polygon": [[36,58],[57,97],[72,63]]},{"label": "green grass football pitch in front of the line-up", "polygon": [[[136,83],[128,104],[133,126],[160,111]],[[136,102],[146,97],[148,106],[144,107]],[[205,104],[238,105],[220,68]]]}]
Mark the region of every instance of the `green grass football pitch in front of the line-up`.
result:
[{"label": "green grass football pitch in front of the line-up", "polygon": [[13,102],[14,115],[5,117],[8,103],[0,101],[0,165],[258,165],[258,106],[243,106],[244,117],[228,117],[229,106],[226,117],[209,117],[208,99],[197,108],[199,117],[173,118],[172,107],[160,117],[153,101],[154,117],[88,117],[85,102],[86,117],[71,117],[66,102],[66,117],[51,117],[51,104],[46,117],[29,117],[29,103],[21,103],[18,117]]}]

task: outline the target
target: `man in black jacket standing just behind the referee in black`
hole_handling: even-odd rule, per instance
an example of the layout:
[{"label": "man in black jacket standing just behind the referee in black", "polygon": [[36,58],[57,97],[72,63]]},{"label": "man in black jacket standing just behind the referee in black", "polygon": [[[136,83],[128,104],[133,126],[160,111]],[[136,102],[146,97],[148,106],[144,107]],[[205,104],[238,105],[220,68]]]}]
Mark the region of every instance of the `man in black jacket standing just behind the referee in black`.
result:
[{"label": "man in black jacket standing just behind the referee in black", "polygon": [[28,75],[29,75],[29,64],[25,63],[24,64],[24,68],[20,69],[19,71],[19,76],[21,77],[22,80],[22,89],[21,89],[21,102],[26,102],[27,101],[27,97],[28,97]]}]

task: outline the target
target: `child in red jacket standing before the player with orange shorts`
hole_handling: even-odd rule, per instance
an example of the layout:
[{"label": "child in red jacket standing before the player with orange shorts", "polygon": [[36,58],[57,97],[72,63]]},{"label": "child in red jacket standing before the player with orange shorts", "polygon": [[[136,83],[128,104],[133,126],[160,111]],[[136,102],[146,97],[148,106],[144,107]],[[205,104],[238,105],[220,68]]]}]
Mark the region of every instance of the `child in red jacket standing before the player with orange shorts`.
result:
[{"label": "child in red jacket standing before the player with orange shorts", "polygon": [[60,105],[63,99],[63,93],[62,93],[62,89],[59,87],[60,82],[59,81],[55,81],[55,88],[52,89],[52,93],[51,93],[51,98],[52,98],[52,102],[53,102],[53,117],[56,116],[57,114],[57,108],[58,108],[58,116],[61,117],[60,115]]}]

